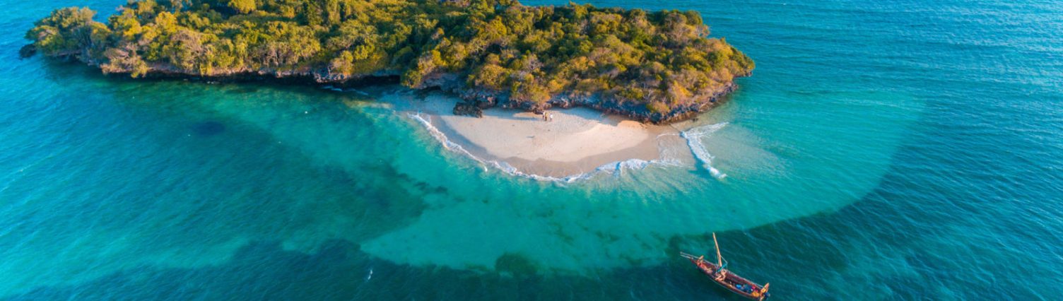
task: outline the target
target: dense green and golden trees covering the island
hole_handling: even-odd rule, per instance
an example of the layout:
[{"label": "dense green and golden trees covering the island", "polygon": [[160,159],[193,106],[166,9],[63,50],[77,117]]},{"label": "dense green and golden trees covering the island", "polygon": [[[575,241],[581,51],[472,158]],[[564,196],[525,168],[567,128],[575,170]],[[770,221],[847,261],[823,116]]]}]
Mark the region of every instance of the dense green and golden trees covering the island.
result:
[{"label": "dense green and golden trees covering the island", "polygon": [[138,0],[105,23],[94,15],[56,10],[27,38],[46,55],[132,77],[399,76],[409,87],[523,107],[576,99],[629,115],[696,111],[754,68],[708,38],[695,12],[510,0]]}]

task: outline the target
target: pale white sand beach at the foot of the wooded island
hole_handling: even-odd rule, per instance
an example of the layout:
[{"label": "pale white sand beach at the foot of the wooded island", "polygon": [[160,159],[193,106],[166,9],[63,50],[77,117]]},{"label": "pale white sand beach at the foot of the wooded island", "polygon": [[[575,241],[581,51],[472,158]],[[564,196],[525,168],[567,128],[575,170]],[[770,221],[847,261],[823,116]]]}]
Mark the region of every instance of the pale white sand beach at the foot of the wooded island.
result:
[{"label": "pale white sand beach at the foot of the wooded island", "polygon": [[[483,118],[452,114],[454,98],[401,96],[400,111],[420,113],[446,137],[477,157],[505,162],[519,171],[569,177],[627,160],[659,160],[661,144],[682,144],[668,126],[646,124],[576,107],[534,113],[489,108]],[[671,138],[668,138],[671,136]]]}]

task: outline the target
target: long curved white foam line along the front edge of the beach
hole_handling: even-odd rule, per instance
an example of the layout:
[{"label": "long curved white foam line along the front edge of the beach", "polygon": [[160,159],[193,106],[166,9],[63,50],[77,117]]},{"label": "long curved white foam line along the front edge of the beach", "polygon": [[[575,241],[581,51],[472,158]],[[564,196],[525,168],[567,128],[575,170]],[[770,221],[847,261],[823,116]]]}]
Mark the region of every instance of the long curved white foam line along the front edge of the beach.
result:
[{"label": "long curved white foam line along the front edge of the beach", "polygon": [[[414,120],[417,120],[419,123],[421,123],[421,126],[423,126],[426,130],[428,130],[428,133],[432,135],[432,137],[436,138],[436,140],[438,140],[440,144],[442,144],[443,148],[445,148],[445,149],[448,149],[450,151],[454,151],[454,152],[460,153],[460,154],[462,154],[462,155],[465,155],[465,156],[467,156],[469,158],[472,158],[473,161],[476,161],[477,163],[480,164],[482,167],[484,167],[484,171],[487,171],[488,170],[488,166],[490,166],[490,167],[493,167],[493,168],[495,168],[497,170],[501,170],[501,171],[503,171],[503,172],[505,172],[505,173],[507,173],[509,175],[527,178],[527,179],[533,179],[533,180],[537,180],[537,181],[549,181],[549,182],[558,182],[558,183],[572,183],[572,182],[576,182],[576,181],[579,181],[579,180],[590,179],[590,178],[592,178],[592,177],[594,177],[595,174],[598,174],[598,173],[608,173],[608,174],[613,174],[613,175],[618,175],[619,177],[619,175],[623,174],[623,172],[624,172],[625,169],[641,170],[641,169],[645,169],[646,167],[649,167],[649,166],[653,166],[653,165],[660,165],[660,166],[678,166],[679,165],[679,163],[677,161],[675,161],[675,160],[667,160],[665,158],[665,160],[649,160],[649,161],[646,161],[646,160],[640,160],[640,158],[629,158],[629,160],[625,160],[625,161],[619,161],[619,162],[612,162],[612,163],[604,164],[602,166],[598,166],[597,168],[594,169],[594,171],[591,171],[591,172],[584,172],[584,173],[571,174],[571,175],[566,175],[566,177],[560,177],[560,178],[558,178],[558,177],[550,177],[550,175],[541,175],[541,174],[535,174],[535,173],[526,173],[526,172],[522,172],[522,171],[518,170],[517,167],[513,167],[512,165],[509,165],[509,163],[494,161],[494,160],[484,160],[484,158],[480,158],[480,157],[472,154],[471,152],[469,152],[468,150],[466,150],[465,148],[462,148],[460,145],[458,145],[458,144],[456,144],[454,141],[451,141],[450,138],[446,137],[446,134],[443,134],[442,131],[439,131],[439,129],[437,129],[436,126],[432,124],[432,121],[429,121],[427,118],[425,118],[426,115],[421,114],[420,112],[418,112],[416,114],[415,113],[408,113],[406,115],[409,116],[410,118],[412,118]],[[431,115],[428,115],[428,116],[431,118]]]}]

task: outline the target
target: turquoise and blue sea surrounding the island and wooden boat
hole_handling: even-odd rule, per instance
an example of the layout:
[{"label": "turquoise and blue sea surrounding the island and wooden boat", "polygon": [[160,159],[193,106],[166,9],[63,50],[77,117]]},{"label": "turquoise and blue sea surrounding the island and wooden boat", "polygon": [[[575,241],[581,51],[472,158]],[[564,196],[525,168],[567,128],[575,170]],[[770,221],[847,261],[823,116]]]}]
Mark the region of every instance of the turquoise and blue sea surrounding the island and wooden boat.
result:
[{"label": "turquoise and blue sea surrounding the island and wooden boat", "polygon": [[708,166],[574,183],[443,148],[394,87],[17,58],[120,3],[0,13],[0,298],[732,299],[676,256],[712,231],[775,299],[1063,292],[1059,1],[594,1],[701,11],[758,68],[684,126]]}]

